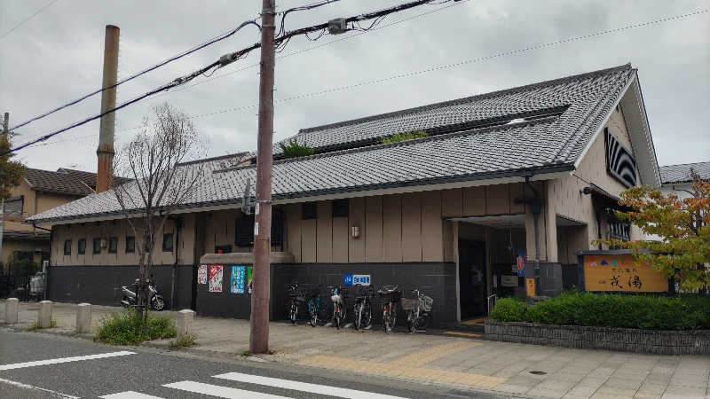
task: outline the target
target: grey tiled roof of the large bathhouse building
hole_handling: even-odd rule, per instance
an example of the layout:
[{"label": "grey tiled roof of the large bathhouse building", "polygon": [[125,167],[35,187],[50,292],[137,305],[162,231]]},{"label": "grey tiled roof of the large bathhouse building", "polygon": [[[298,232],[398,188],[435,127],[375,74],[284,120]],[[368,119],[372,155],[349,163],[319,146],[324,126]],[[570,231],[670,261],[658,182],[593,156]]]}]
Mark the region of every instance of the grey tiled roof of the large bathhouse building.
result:
[{"label": "grey tiled roof of the large bathhouse building", "polygon": [[[572,170],[575,160],[604,123],[604,116],[634,77],[635,69],[631,66],[618,66],[303,130],[297,137],[317,131],[318,135],[312,137],[319,137],[322,145],[340,143],[345,146],[351,143],[347,142],[351,140],[349,137],[356,133],[361,135],[359,137],[372,138],[422,127],[438,133],[452,132],[390,145],[362,146],[276,161],[273,165],[273,197],[279,200],[522,176],[531,171],[541,174]],[[550,109],[557,111],[533,121],[506,122],[517,119],[521,113],[545,114]],[[498,121],[498,124],[471,129],[471,126],[480,126],[482,121]],[[377,126],[382,128],[381,131]],[[452,126],[458,128],[446,128]],[[196,170],[195,165],[204,166],[207,174],[193,198],[185,200],[182,207],[238,204],[248,179],[252,184],[251,192],[254,192],[254,166],[225,169],[220,160],[205,160],[199,164],[186,164],[185,168]],[[35,215],[30,220],[50,222],[100,217],[119,211],[114,193],[102,192]]]}]

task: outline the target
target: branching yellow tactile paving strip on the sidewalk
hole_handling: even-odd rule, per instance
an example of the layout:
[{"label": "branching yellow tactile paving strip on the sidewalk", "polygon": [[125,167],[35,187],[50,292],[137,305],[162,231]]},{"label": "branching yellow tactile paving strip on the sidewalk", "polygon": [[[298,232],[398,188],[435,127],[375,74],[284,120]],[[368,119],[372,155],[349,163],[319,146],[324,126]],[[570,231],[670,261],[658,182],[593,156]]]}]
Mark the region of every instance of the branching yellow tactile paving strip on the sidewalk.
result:
[{"label": "branching yellow tactile paving strip on the sidewalk", "polygon": [[389,363],[320,355],[305,358],[298,363],[347,372],[361,372],[365,374],[408,379],[424,379],[433,382],[448,382],[475,387],[496,387],[505,381],[505,379],[469,372],[450,372],[446,370],[427,369],[422,367],[423,364],[445,356],[454,355],[461,350],[473,348],[477,345],[480,344],[470,341],[456,341],[450,344],[438,345],[434,348],[424,349],[407,356],[402,356]]}]

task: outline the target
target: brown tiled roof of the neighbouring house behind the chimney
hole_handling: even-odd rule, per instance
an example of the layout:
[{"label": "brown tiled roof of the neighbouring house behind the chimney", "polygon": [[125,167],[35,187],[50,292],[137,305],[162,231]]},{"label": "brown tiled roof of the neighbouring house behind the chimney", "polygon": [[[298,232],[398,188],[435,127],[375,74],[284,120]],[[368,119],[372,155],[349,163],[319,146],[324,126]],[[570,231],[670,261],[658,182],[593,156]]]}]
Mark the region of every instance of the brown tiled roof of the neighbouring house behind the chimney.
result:
[{"label": "brown tiled roof of the neighbouring house behind the chimney", "polygon": [[[35,168],[25,169],[25,179],[37,192],[84,196],[96,189],[96,174],[82,170],[59,168],[56,172]],[[114,183],[127,180],[114,176]]]}]

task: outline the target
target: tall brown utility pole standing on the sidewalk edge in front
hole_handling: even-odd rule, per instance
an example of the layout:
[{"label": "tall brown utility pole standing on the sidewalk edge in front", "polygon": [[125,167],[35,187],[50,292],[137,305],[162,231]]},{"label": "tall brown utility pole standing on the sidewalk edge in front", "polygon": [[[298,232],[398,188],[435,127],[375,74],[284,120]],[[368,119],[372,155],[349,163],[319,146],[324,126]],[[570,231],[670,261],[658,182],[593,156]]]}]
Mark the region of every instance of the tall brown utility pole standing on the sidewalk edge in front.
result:
[{"label": "tall brown utility pole standing on the sidewalk edge in front", "polygon": [[254,283],[251,294],[249,351],[269,351],[271,290],[273,65],[276,0],[262,0],[261,65],[259,67],[259,132],[256,144],[256,208]]}]

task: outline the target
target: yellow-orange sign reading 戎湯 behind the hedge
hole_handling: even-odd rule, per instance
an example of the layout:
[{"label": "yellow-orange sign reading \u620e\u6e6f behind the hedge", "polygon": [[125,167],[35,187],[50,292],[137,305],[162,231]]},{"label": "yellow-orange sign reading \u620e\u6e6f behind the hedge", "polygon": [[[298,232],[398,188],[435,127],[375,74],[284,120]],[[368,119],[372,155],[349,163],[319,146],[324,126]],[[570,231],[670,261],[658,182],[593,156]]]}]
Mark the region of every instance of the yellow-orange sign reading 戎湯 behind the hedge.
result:
[{"label": "yellow-orange sign reading \u620e\u6e6f behind the hedge", "polygon": [[632,254],[584,255],[584,289],[659,293],[668,291],[668,279]]}]

